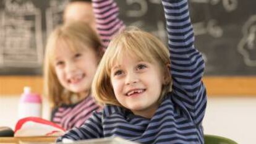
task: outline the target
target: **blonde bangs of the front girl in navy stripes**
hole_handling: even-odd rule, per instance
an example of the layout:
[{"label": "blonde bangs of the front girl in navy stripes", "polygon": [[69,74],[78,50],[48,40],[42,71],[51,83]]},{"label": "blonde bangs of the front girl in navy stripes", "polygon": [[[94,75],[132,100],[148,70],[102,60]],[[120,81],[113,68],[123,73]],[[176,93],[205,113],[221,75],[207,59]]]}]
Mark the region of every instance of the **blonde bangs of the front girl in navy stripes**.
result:
[{"label": "blonde bangs of the front girl in navy stripes", "polygon": [[[147,43],[145,38],[137,38],[132,33],[125,33],[119,35],[114,41],[109,43],[108,49],[106,50],[106,57],[109,57],[106,61],[107,74],[111,74],[111,68],[114,65],[118,65],[122,59],[126,59],[130,56],[132,59],[137,59],[138,61],[147,61],[152,63],[155,60],[154,49],[151,45]],[[107,52],[108,51],[108,52]],[[153,53],[152,53],[153,52]]]}]

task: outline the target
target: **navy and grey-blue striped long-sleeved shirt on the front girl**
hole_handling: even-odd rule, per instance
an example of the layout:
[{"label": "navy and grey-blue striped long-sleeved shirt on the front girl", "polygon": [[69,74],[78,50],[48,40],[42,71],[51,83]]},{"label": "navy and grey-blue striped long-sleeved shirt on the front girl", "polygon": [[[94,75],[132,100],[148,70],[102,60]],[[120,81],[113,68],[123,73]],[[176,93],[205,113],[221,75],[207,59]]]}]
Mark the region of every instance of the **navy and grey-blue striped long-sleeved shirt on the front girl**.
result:
[{"label": "navy and grey-blue striped long-sleeved shirt on the front girl", "polygon": [[122,137],[139,143],[204,143],[202,120],[207,94],[202,82],[204,61],[194,48],[194,32],[187,0],[162,0],[171,53],[173,91],[151,119],[127,109],[106,105],[78,129],[58,138],[83,140]]}]

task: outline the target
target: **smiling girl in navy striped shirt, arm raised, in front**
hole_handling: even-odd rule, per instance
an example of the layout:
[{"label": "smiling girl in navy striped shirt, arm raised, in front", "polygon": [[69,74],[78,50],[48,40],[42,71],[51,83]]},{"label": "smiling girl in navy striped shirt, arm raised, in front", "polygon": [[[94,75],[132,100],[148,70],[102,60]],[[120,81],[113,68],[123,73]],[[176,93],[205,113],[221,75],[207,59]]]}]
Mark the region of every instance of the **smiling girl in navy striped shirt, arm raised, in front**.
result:
[{"label": "smiling girl in navy striped shirt, arm raised, in front", "polygon": [[204,143],[204,61],[194,48],[187,0],[162,0],[168,49],[150,33],[124,30],[109,43],[93,79],[104,105],[58,138],[122,137],[139,143]]}]

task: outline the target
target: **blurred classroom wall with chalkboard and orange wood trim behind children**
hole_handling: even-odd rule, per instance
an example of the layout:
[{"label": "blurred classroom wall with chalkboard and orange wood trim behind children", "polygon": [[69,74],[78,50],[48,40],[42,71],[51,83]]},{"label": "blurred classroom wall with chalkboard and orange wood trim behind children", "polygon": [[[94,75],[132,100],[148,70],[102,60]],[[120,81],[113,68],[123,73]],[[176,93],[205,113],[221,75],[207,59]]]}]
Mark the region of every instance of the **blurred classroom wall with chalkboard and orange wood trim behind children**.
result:
[{"label": "blurred classroom wall with chalkboard and orange wood trim behind children", "polygon": [[[42,94],[46,38],[67,0],[0,0],[0,126],[14,128],[23,87]],[[126,25],[167,44],[160,0],[116,1]],[[256,142],[256,1],[190,0],[195,46],[205,62],[205,133]],[[48,114],[44,113],[45,118]]]}]

